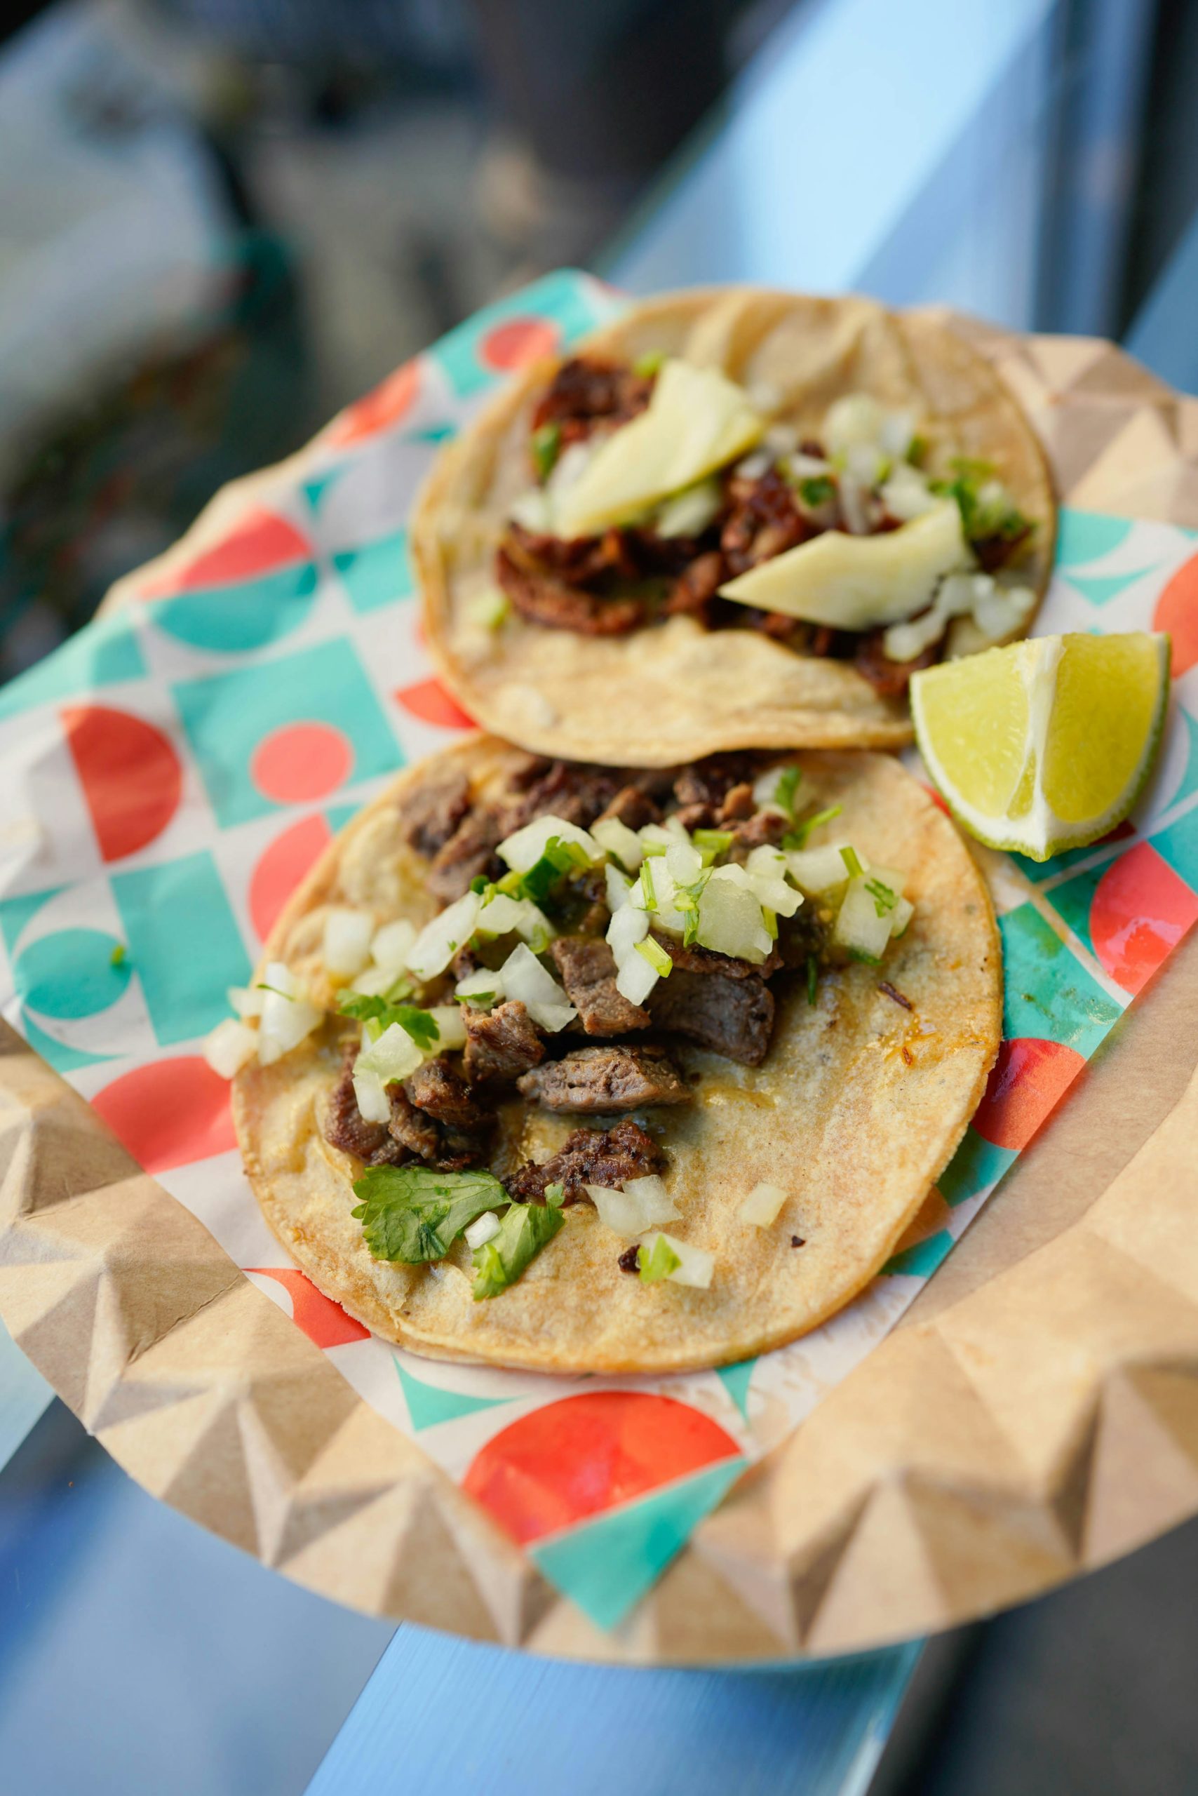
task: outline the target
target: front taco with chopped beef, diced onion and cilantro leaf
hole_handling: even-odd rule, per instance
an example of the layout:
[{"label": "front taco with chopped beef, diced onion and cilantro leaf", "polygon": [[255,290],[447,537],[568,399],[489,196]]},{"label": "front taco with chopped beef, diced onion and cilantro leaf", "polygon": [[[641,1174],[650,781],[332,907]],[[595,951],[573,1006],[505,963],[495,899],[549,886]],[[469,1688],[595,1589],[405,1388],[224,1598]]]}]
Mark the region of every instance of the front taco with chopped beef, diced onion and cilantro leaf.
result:
[{"label": "front taco with chopped beef, diced onion and cilantro leaf", "polygon": [[210,1063],[322,1291],[417,1352],[665,1372],[884,1264],[982,1094],[1000,952],[889,756],[476,738],[338,837],[232,999]]}]

